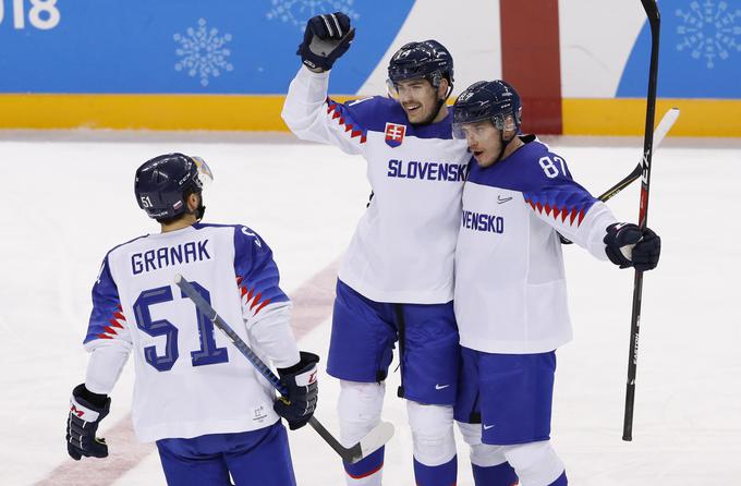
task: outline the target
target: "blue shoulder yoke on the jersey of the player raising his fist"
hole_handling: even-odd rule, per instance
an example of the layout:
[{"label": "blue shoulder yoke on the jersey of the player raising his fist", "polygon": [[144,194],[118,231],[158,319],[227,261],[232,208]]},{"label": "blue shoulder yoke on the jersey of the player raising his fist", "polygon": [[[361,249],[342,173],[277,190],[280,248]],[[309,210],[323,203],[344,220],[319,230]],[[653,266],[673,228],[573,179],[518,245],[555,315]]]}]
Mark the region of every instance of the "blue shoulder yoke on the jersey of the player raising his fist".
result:
[{"label": "blue shoulder yoke on the jersey of the player raising his fist", "polygon": [[[386,123],[406,125],[404,136],[442,139],[451,139],[453,137],[452,110],[448,110],[448,116],[437,123],[413,125],[409,122],[406,112],[399,105],[399,101],[382,96],[357,99],[347,104],[338,104],[327,98],[327,112],[332,113],[332,117],[336,117],[341,124],[351,124],[352,129],[347,130],[352,130],[353,136],[361,136],[363,138],[362,142],[365,142],[364,138],[367,132],[385,133]],[[354,131],[357,131],[359,135],[354,135]]]}]

